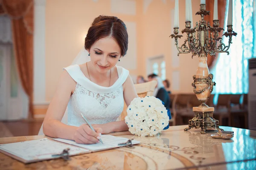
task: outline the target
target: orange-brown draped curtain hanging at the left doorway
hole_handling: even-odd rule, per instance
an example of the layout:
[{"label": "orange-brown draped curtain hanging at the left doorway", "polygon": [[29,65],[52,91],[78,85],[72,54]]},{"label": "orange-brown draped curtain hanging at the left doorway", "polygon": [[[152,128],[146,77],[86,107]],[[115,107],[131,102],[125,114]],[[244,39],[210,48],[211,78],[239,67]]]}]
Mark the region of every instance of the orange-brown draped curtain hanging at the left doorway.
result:
[{"label": "orange-brown draped curtain hanging at the left doorway", "polygon": [[[17,70],[29,96],[29,119],[33,118],[33,0],[0,0],[2,11],[12,19],[12,36]],[[0,10],[1,11],[1,10]]]}]

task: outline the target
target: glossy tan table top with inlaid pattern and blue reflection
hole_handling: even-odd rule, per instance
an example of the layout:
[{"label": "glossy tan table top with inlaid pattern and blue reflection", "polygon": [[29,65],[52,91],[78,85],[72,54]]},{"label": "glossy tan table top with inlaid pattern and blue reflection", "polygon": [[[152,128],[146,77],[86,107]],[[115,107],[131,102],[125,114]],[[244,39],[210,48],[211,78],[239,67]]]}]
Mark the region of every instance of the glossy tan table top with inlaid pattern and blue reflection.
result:
[{"label": "glossy tan table top with inlaid pattern and blue reflection", "polygon": [[[113,136],[133,138],[141,143],[135,148],[118,148],[72,156],[69,161],[52,159],[31,164],[0,153],[0,169],[73,169],[73,170],[254,170],[256,167],[256,131],[235,127],[221,127],[234,131],[233,139],[213,139],[199,129],[172,126],[160,136],[138,137],[128,131],[111,133]],[[0,138],[0,144],[42,139],[47,136],[18,136]],[[49,137],[47,137],[49,138]]]}]

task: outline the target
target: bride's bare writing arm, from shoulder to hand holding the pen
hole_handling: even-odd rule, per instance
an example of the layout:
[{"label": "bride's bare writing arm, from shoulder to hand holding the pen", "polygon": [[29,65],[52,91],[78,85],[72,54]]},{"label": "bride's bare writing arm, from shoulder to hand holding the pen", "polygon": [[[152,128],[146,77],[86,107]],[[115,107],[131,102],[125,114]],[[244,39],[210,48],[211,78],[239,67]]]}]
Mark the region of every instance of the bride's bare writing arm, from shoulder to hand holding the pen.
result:
[{"label": "bride's bare writing arm, from shoulder to hand holding the pen", "polygon": [[75,140],[77,143],[96,143],[98,142],[97,136],[99,134],[93,132],[87,125],[75,127],[65,125],[61,122],[70,96],[75,88],[76,82],[70,77],[67,71],[63,71],[44,118],[44,134],[53,138]]}]

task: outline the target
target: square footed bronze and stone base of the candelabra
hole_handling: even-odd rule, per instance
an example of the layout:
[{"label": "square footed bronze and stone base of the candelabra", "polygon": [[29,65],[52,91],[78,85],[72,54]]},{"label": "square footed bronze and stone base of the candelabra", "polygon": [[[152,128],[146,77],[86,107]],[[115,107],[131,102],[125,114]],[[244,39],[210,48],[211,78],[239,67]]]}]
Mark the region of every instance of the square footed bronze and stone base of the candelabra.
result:
[{"label": "square footed bronze and stone base of the candelabra", "polygon": [[186,127],[185,131],[194,127],[196,129],[201,127],[201,134],[206,134],[205,130],[207,129],[223,130],[219,128],[219,121],[213,118],[213,107],[193,107],[193,111],[194,117],[189,120],[189,127]]}]

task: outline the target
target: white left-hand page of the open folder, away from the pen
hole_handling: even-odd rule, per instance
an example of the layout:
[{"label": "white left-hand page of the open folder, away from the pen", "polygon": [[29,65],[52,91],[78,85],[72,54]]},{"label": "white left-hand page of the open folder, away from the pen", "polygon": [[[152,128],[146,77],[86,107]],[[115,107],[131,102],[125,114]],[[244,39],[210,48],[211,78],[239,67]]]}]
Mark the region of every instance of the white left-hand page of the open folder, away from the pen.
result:
[{"label": "white left-hand page of the open folder, away from the pen", "polygon": [[70,148],[69,155],[89,152],[87,149],[52,141],[47,138],[0,145],[0,150],[11,153],[28,162],[53,159],[52,155],[61,154],[67,148]]}]

